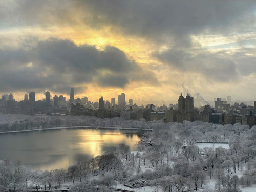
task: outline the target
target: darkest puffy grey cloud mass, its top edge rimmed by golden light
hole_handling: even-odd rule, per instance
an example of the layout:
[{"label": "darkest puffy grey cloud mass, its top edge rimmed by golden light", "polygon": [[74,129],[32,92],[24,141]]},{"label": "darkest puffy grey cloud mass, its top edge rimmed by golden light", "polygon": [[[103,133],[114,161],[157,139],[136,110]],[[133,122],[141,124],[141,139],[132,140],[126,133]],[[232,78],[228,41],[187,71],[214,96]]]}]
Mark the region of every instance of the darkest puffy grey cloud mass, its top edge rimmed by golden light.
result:
[{"label": "darkest puffy grey cloud mass, its top edge rimmed by golden light", "polygon": [[127,59],[124,52],[106,46],[103,51],[94,46],[76,46],[69,40],[50,39],[40,41],[37,46],[38,58],[51,65],[56,70],[67,71],[86,70],[95,72],[97,69],[107,69],[115,72],[130,72],[137,65]]}]

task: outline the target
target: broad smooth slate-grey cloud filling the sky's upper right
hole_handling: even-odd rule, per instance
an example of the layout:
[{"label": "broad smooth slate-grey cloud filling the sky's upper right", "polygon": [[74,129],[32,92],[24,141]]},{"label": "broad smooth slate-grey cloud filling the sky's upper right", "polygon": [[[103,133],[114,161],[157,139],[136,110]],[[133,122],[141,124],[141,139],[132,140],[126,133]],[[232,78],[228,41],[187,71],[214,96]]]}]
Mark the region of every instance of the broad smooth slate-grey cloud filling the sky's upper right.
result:
[{"label": "broad smooth slate-grey cloud filling the sky's upper right", "polygon": [[[88,8],[91,26],[112,25],[124,32],[166,40],[174,37],[176,45],[189,45],[190,34],[234,32],[254,18],[255,1],[78,1]],[[254,19],[255,20],[255,19]],[[88,18],[85,18],[88,22]],[[251,22],[251,20],[250,20]],[[244,26],[248,29],[248,26]],[[241,30],[241,29],[240,29]]]}]

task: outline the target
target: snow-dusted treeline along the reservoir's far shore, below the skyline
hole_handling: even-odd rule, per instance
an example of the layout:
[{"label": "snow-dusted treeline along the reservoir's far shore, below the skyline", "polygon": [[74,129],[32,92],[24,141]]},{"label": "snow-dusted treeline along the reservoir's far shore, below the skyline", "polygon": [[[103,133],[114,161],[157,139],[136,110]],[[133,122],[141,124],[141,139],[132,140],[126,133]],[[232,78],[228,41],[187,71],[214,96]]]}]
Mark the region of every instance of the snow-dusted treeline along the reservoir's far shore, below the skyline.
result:
[{"label": "snow-dusted treeline along the reservoir's far shore, below the skyline", "polygon": [[44,129],[52,127],[69,126],[100,126],[100,127],[135,127],[154,128],[154,124],[144,119],[123,120],[119,117],[100,119],[91,116],[26,116],[26,115],[0,115],[0,132],[21,131],[31,129]]}]

